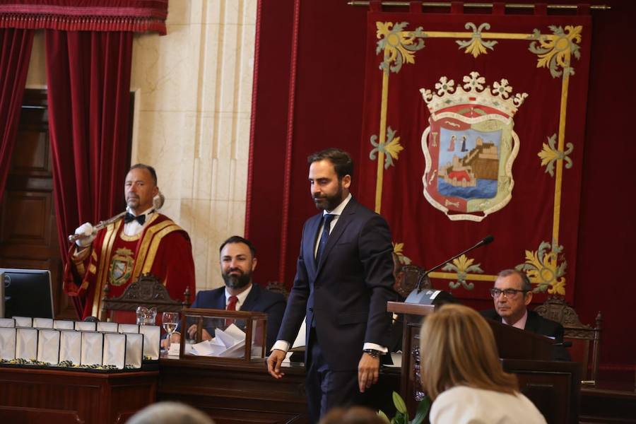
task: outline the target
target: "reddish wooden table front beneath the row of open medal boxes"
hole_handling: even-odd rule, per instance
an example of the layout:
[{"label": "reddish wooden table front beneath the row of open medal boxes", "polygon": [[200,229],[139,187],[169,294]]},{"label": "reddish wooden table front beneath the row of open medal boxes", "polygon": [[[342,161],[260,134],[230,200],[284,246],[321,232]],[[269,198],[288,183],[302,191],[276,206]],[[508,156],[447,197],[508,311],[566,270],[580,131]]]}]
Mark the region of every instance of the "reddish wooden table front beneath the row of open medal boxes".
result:
[{"label": "reddish wooden table front beneath the row of open medal boxes", "polygon": [[0,421],[124,423],[153,403],[158,375],[0,367]]}]

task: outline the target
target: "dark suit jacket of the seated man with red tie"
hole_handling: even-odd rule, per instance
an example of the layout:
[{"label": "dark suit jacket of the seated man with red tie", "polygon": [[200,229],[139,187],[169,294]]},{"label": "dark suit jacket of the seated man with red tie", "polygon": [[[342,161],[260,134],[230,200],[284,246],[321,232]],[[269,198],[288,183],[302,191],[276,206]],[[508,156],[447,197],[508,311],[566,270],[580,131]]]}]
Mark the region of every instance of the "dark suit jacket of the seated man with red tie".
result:
[{"label": "dark suit jacket of the seated man with red tie", "polygon": [[[196,299],[191,307],[208,309],[225,309],[225,287],[214,290],[201,290],[196,293]],[[252,284],[245,302],[241,305],[242,311],[265,312],[267,314],[267,352],[276,341],[276,334],[281,327],[283,313],[285,313],[285,297],[281,293],[273,293],[261,288],[258,284]]]}]

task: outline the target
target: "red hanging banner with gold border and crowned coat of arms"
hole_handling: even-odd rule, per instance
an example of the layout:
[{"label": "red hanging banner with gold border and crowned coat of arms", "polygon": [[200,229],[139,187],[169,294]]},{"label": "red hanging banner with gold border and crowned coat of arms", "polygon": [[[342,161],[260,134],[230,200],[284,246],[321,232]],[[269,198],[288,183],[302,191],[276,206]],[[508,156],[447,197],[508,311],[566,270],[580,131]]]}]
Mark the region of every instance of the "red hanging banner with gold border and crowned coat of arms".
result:
[{"label": "red hanging banner with gold border and crowned coat of arms", "polygon": [[495,237],[436,288],[483,298],[517,268],[572,301],[590,39],[587,15],[368,13],[358,199],[403,263]]}]

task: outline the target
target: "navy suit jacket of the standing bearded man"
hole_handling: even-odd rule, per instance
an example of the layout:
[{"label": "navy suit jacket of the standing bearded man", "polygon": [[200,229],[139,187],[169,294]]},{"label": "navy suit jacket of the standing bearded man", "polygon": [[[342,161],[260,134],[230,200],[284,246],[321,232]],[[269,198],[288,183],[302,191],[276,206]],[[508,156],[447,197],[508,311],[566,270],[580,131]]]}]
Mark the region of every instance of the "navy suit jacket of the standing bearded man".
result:
[{"label": "navy suit jacket of the standing bearded man", "polygon": [[319,213],[302,228],[296,276],[278,339],[293,342],[307,314],[305,346],[311,348],[309,327],[314,321],[329,369],[357,370],[365,342],[389,346],[387,301],[396,300],[391,232],[382,216],[351,199],[316,264],[321,223]]}]

